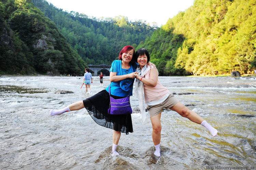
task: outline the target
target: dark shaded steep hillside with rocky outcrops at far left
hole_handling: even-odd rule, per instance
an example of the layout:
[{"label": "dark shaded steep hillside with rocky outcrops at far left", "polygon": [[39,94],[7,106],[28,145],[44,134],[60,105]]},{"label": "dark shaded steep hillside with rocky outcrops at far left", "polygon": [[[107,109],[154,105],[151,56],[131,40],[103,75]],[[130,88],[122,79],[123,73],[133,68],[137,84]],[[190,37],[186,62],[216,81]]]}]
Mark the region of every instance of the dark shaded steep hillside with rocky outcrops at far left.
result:
[{"label": "dark shaded steep hillside with rocky outcrops at far left", "polygon": [[31,0],[1,0],[0,23],[0,73],[84,72],[85,62]]}]

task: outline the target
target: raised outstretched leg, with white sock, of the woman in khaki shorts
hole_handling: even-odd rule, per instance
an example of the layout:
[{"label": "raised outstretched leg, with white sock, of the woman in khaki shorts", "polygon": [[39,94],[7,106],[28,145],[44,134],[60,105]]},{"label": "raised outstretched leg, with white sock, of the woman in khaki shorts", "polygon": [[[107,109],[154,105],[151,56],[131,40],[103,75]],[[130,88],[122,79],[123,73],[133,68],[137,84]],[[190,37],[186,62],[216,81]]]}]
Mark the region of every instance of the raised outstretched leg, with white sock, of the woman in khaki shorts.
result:
[{"label": "raised outstretched leg, with white sock, of the woman in khaki shorts", "polygon": [[194,111],[189,110],[187,107],[185,107],[181,102],[178,102],[176,105],[171,107],[173,111],[176,111],[179,113],[182,117],[188,118],[190,121],[201,124],[202,126],[206,127],[212,136],[216,136],[218,131],[213,128],[209,123],[207,123],[203,118],[201,118],[198,114],[196,114]]}]

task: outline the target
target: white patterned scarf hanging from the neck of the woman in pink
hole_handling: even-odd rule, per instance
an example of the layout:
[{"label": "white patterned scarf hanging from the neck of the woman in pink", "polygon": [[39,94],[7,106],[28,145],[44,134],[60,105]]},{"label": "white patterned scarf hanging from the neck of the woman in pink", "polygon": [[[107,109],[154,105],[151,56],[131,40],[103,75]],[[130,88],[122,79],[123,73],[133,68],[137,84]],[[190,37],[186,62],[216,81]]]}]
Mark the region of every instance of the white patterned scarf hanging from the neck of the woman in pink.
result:
[{"label": "white patterned scarf hanging from the neck of the woman in pink", "polygon": [[[145,65],[142,70],[140,69],[140,65],[136,68],[136,72],[139,73],[141,77],[144,77],[145,74],[150,70],[150,66],[147,67]],[[139,99],[139,108],[141,111],[141,117],[142,117],[142,122],[146,120],[146,104],[145,104],[145,98],[144,98],[144,86],[143,82],[141,82],[139,79],[135,80],[135,92],[134,96],[136,96]]]}]

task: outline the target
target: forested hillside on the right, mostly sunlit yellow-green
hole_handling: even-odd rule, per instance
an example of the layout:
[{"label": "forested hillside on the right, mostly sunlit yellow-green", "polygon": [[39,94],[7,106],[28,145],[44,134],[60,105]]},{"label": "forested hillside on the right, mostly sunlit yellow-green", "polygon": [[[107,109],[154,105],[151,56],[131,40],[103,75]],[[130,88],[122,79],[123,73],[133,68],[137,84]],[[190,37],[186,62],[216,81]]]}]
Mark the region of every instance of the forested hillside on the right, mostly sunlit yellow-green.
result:
[{"label": "forested hillside on the right, mostly sunlit yellow-green", "polygon": [[160,75],[215,75],[256,68],[256,1],[195,0],[140,43]]}]

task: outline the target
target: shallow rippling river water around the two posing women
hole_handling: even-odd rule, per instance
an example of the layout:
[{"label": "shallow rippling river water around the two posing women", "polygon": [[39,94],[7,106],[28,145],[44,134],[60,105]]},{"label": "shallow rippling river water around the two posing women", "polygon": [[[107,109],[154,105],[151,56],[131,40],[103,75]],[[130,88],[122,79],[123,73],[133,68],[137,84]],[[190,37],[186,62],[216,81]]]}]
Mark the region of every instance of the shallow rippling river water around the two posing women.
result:
[{"label": "shallow rippling river water around the two posing women", "polygon": [[[159,77],[185,106],[218,130],[174,111],[161,114],[161,157],[154,156],[148,113],[143,123],[138,99],[133,133],[122,133],[112,156],[112,129],[96,124],[86,109],[50,116],[105,89],[93,77],[91,94],[83,77],[0,77],[0,169],[256,169],[256,77]],[[57,90],[73,93],[56,94]],[[252,167],[252,168],[251,168]]]}]

